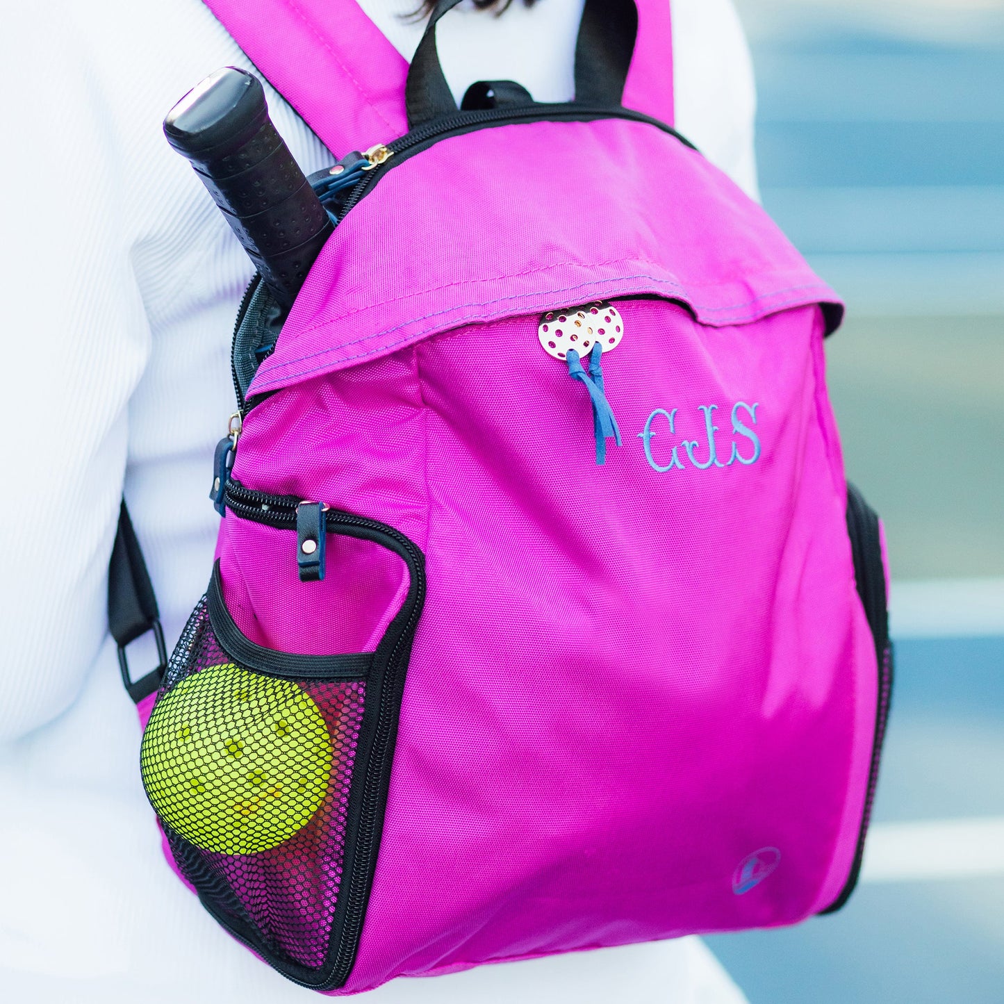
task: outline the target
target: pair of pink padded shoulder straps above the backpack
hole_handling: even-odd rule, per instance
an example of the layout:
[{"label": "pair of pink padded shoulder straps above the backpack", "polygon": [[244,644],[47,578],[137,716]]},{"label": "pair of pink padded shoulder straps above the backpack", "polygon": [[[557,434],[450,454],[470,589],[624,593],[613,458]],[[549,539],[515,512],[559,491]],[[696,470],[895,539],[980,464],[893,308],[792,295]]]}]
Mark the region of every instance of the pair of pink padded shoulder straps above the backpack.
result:
[{"label": "pair of pink padded shoulder straps above the backpack", "polygon": [[[638,41],[623,104],[672,124],[670,0],[636,2]],[[355,0],[205,3],[336,156],[408,132],[408,63]]]}]

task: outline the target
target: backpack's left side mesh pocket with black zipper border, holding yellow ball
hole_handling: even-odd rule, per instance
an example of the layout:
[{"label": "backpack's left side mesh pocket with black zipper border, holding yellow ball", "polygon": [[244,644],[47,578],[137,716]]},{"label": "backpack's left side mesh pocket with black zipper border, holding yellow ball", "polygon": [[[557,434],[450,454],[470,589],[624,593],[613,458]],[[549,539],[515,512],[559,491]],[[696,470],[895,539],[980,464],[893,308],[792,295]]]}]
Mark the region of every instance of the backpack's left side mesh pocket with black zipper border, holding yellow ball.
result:
[{"label": "backpack's left side mesh pocket with black zipper border, holding yellow ball", "polygon": [[[281,512],[266,511],[277,525]],[[343,983],[354,960],[425,593],[423,555],[393,528],[336,513],[326,532],[382,544],[407,566],[407,593],[374,651],[258,645],[231,615],[217,562],[141,750],[172,856],[205,907],[316,989]]]}]

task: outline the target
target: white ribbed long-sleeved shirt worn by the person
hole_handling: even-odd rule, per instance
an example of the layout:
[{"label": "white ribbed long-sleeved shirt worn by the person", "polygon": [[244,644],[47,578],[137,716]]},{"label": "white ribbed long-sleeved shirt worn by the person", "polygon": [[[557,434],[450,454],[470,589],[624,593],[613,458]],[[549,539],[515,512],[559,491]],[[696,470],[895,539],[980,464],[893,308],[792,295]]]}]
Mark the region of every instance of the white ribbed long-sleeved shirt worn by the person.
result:
[{"label": "white ribbed long-sleeved shirt worn by the person", "polygon": [[[348,2],[348,0],[331,0]],[[410,57],[413,0],[361,0]],[[458,10],[440,50],[462,94],[513,78],[567,100],[581,0]],[[751,194],[749,53],[731,0],[674,0],[677,126]],[[555,53],[564,53],[557,58]],[[136,712],[107,635],[124,487],[169,647],[205,589],[213,447],[234,409],[229,347],[252,267],[164,114],[207,73],[252,69],[201,0],[7,4],[0,395],[0,996],[279,1004],[308,992],[233,942],[169,870],[139,776]],[[331,163],[267,88],[305,172]],[[337,152],[339,156],[344,152]],[[140,647],[134,647],[139,649]],[[137,675],[152,653],[131,649]],[[144,661],[146,660],[146,662]],[[374,1002],[733,1004],[696,939],[435,980]]]}]

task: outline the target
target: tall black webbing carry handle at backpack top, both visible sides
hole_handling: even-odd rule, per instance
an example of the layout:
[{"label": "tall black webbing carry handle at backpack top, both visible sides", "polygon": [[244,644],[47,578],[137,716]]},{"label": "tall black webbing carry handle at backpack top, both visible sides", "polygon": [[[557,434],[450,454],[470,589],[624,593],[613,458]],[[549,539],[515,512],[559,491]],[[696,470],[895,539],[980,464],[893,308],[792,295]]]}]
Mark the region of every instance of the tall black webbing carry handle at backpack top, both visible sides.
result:
[{"label": "tall black webbing carry handle at backpack top, both visible sides", "polygon": [[[439,0],[415,51],[405,89],[411,130],[457,112],[440,65],[436,22],[460,0]],[[575,42],[575,103],[618,107],[638,36],[635,0],[585,0]]]}]

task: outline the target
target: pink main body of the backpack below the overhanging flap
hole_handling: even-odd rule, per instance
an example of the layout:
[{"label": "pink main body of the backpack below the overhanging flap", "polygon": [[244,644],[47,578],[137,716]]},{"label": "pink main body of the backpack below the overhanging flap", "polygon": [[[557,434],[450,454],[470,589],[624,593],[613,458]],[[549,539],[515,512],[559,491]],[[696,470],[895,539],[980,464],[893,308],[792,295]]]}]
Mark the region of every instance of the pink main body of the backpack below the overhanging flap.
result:
[{"label": "pink main body of the backpack below the overhanging flap", "polygon": [[[624,446],[604,468],[584,393],[535,343],[534,316],[497,326],[488,364],[518,376],[492,386],[490,405],[472,325],[249,416],[245,484],[361,510],[429,557],[349,991],[791,923],[846,880],[875,670],[818,310],[720,328],[665,301],[620,310],[628,333],[605,372]],[[294,397],[330,437],[326,463],[269,447]],[[700,403],[754,397],[756,464],[659,474],[646,462],[652,408],[679,408],[681,438],[700,438]],[[652,443],[663,464],[672,442]],[[371,479],[392,458],[393,477]],[[420,492],[425,520],[409,498]],[[228,537],[243,529],[227,521]],[[293,608],[309,589],[294,588]],[[291,615],[282,641],[300,623]],[[783,863],[737,897],[733,872],[761,847]]]}]

